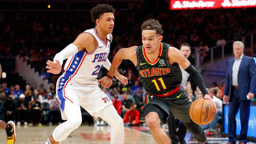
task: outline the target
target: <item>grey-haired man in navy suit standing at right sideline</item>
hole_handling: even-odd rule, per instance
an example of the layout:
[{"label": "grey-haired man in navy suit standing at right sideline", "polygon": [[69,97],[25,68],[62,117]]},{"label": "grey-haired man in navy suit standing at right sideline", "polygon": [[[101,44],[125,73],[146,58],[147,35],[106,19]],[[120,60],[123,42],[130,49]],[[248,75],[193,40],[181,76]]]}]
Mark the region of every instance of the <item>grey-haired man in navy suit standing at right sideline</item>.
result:
[{"label": "grey-haired man in navy suit standing at right sideline", "polygon": [[228,62],[223,101],[228,103],[227,144],[236,143],[236,114],[240,107],[241,132],[239,144],[247,143],[250,102],[256,94],[256,64],[252,57],[243,54],[244,44],[233,43],[235,59]]}]

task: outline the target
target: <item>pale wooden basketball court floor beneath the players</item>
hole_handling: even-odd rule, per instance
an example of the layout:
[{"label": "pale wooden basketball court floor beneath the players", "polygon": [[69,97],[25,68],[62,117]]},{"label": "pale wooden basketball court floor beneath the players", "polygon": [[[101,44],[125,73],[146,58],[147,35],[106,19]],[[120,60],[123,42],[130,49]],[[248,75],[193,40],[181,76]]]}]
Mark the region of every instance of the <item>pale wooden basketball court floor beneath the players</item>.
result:
[{"label": "pale wooden basketball court floor beneath the players", "polygon": [[[45,144],[56,126],[17,127],[15,144]],[[164,129],[164,131],[168,131]],[[187,144],[196,144],[193,136],[187,132]],[[227,138],[220,136],[208,137],[208,143],[226,144]],[[238,143],[238,142],[237,142]],[[6,134],[0,130],[0,144],[6,144]],[[61,144],[110,144],[110,127],[81,125],[74,130]],[[147,127],[125,127],[124,144],[157,144]],[[247,144],[256,144],[249,142]]]}]

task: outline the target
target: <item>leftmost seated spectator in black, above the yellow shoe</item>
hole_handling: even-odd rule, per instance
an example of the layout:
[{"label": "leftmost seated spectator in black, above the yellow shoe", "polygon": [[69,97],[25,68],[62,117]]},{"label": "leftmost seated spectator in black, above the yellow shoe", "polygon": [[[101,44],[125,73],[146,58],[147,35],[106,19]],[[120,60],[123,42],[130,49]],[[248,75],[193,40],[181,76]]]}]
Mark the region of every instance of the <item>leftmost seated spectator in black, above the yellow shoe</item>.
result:
[{"label": "leftmost seated spectator in black, above the yellow shoe", "polygon": [[3,113],[4,113],[4,120],[7,123],[8,121],[15,120],[15,104],[12,100],[12,96],[9,95],[7,100],[3,104]]}]

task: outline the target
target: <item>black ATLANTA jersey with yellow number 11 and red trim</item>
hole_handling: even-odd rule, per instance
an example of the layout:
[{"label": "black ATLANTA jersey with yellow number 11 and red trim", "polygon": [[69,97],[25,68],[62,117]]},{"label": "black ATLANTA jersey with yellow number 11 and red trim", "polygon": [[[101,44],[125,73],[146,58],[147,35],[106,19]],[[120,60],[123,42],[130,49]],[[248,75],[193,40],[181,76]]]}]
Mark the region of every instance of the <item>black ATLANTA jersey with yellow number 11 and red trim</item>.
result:
[{"label": "black ATLANTA jersey with yellow number 11 and red trim", "polygon": [[160,43],[160,51],[155,62],[150,62],[144,46],[136,48],[137,70],[147,93],[162,95],[179,87],[182,73],[177,63],[168,61],[169,44]]}]

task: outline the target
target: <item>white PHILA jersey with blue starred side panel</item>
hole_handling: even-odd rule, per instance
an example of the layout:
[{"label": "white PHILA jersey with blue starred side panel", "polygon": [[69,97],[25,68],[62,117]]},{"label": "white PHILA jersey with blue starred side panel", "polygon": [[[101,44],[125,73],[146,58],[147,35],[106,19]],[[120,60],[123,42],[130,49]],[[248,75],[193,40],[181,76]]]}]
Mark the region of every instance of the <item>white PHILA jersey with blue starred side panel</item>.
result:
[{"label": "white PHILA jersey with blue starred side panel", "polygon": [[108,58],[111,36],[110,34],[107,35],[108,40],[106,44],[99,38],[94,28],[84,32],[91,34],[97,40],[98,46],[91,53],[79,51],[67,59],[64,66],[65,72],[59,78],[63,84],[67,84],[68,82],[83,85],[98,84],[96,79],[98,77],[97,74]]}]

